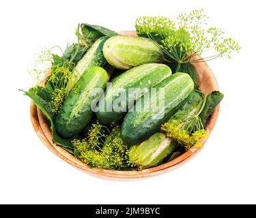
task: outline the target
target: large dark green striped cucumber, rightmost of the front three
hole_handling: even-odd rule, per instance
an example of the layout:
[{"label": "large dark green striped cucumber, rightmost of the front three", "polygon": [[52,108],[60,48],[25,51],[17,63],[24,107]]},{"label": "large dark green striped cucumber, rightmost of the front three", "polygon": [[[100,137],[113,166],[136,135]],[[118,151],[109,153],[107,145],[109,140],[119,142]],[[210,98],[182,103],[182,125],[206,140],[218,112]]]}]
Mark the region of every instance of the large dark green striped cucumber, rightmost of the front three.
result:
[{"label": "large dark green striped cucumber, rightmost of the front three", "polygon": [[[152,96],[148,96],[152,91],[143,95],[124,118],[121,136],[129,145],[143,142],[156,133],[160,125],[167,122],[184,104],[194,89],[194,83],[188,74],[176,73],[155,88],[156,92]],[[164,96],[161,91],[165,91]]]}]

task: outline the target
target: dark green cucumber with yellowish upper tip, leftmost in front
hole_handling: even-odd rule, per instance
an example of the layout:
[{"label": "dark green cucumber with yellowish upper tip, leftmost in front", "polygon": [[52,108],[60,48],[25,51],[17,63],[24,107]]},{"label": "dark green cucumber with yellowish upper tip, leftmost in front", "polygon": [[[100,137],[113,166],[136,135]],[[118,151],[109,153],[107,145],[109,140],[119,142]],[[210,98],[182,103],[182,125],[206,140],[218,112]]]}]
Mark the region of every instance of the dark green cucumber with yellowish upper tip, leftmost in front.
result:
[{"label": "dark green cucumber with yellowish upper tip, leftmost in front", "polygon": [[[94,88],[105,89],[109,76],[102,67],[87,69],[63,103],[55,122],[58,133],[63,138],[78,134],[93,116],[92,102],[98,97],[92,95]],[[99,93],[98,93],[99,94]]]}]

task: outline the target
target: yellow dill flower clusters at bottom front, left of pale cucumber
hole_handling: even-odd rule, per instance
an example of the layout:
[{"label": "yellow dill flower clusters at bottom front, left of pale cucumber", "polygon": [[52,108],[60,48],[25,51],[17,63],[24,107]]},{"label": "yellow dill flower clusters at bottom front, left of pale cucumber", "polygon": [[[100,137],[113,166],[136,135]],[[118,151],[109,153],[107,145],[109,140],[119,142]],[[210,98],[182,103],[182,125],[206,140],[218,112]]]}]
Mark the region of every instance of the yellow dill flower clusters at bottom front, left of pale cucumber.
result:
[{"label": "yellow dill flower clusters at bottom front, left of pale cucumber", "polygon": [[74,153],[83,163],[92,168],[115,169],[130,166],[128,149],[120,137],[119,127],[111,133],[98,122],[89,130],[88,137],[73,140]]}]

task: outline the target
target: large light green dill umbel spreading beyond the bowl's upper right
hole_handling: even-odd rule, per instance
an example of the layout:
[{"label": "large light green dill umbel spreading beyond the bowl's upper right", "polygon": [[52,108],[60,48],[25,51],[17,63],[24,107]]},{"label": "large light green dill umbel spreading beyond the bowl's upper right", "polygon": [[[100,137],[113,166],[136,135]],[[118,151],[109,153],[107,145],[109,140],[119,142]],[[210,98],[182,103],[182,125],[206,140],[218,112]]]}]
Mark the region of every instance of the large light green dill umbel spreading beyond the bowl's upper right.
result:
[{"label": "large light green dill umbel spreading beyond the bowl's upper right", "polygon": [[[208,16],[201,9],[180,14],[177,22],[162,16],[143,16],[137,18],[135,27],[139,36],[154,40],[165,53],[167,61],[174,60],[177,65],[210,61],[223,56],[230,58],[232,52],[240,51],[239,44],[230,37],[224,37],[222,29],[207,28],[207,20]],[[202,59],[196,57],[210,50],[215,52]]]}]

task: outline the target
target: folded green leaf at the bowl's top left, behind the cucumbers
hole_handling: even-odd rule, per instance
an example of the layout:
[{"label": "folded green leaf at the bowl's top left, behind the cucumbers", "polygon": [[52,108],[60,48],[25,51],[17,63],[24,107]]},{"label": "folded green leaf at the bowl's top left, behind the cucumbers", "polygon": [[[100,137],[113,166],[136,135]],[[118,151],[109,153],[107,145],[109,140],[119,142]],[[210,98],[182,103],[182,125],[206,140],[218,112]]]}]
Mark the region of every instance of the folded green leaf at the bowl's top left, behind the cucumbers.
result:
[{"label": "folded green leaf at the bowl's top left, behind the cucumbers", "polygon": [[94,44],[94,42],[96,42],[96,40],[98,40],[102,36],[111,37],[117,35],[115,31],[106,29],[105,27],[101,27],[98,25],[89,25],[87,23],[81,24],[81,32],[89,46]]}]

